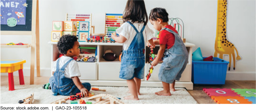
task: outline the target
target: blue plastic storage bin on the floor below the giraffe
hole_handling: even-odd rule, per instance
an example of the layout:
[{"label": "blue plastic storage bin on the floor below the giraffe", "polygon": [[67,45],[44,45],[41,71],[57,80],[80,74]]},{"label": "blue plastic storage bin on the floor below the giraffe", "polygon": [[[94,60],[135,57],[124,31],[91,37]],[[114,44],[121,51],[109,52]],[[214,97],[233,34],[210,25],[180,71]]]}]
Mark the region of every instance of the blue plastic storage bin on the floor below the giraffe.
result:
[{"label": "blue plastic storage bin on the floor below the giraffe", "polygon": [[192,61],[192,82],[194,84],[224,85],[228,61],[213,58],[213,62]]}]

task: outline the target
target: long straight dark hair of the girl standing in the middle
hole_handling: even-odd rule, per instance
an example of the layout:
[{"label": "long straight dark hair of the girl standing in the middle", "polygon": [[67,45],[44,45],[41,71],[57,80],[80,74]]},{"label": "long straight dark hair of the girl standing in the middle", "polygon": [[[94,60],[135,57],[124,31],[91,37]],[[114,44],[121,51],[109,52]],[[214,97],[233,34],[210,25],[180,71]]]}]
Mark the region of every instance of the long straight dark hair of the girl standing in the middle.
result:
[{"label": "long straight dark hair of the girl standing in the middle", "polygon": [[144,0],[127,1],[126,8],[124,10],[123,21],[128,22],[129,20],[132,20],[132,23],[148,23],[148,14]]}]

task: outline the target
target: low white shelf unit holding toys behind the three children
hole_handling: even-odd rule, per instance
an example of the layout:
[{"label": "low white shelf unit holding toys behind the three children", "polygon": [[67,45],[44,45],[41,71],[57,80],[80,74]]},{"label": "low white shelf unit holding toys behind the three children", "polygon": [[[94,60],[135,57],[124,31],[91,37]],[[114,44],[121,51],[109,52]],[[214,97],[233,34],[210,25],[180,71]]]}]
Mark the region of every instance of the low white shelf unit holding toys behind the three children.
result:
[{"label": "low white shelf unit holding toys behind the three children", "polygon": [[[59,57],[59,52],[57,49],[57,42],[49,42],[52,45],[52,58],[51,61],[54,62]],[[194,44],[185,43],[187,51],[189,52],[189,63],[187,68],[182,74],[180,81],[176,82],[175,87],[184,87],[187,90],[193,90],[193,83],[191,82],[192,75],[192,48],[195,47]],[[122,44],[118,43],[87,43],[80,42],[81,47],[97,47],[97,62],[86,63],[78,62],[80,72],[82,76],[80,77],[82,82],[89,82],[92,86],[127,86],[126,80],[119,78],[119,72],[121,67],[121,62],[119,61],[119,55],[122,51]],[[159,47],[159,46],[157,46]],[[156,47],[156,50],[157,50]],[[146,48],[147,49],[147,48]],[[106,50],[112,50],[116,55],[117,59],[113,62],[108,62],[102,58]],[[148,49],[147,49],[148,50]],[[146,50],[146,54],[149,52]],[[157,53],[158,51],[154,51]],[[147,55],[146,55],[147,56]],[[146,57],[147,62],[147,57]],[[150,64],[145,63],[145,76],[148,73]],[[150,79],[142,80],[142,87],[162,87],[162,83],[158,80],[158,72],[161,64],[154,67],[154,71]]]}]

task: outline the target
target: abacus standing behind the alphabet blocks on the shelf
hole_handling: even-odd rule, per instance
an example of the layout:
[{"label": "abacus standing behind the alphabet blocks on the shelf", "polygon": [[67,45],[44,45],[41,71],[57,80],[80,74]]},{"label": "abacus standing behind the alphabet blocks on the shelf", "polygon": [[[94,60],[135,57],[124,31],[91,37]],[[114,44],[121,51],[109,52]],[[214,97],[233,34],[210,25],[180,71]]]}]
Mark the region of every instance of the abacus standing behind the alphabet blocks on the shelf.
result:
[{"label": "abacus standing behind the alphabet blocks on the shelf", "polygon": [[90,27],[89,27],[89,34],[91,35],[92,33],[92,28],[93,28],[93,33],[94,33],[94,26],[92,26],[92,14],[68,14],[66,13],[66,21],[76,21],[78,23],[78,29],[79,29],[79,22],[89,22]]}]

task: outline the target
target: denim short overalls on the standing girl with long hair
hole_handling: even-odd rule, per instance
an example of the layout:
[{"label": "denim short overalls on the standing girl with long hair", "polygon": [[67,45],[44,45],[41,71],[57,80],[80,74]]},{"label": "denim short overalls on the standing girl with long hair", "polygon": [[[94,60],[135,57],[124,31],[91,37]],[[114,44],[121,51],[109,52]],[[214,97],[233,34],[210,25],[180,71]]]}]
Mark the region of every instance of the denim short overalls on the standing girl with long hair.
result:
[{"label": "denim short overalls on the standing girl with long hair", "polygon": [[134,77],[144,78],[144,66],[145,66],[145,41],[143,37],[143,31],[145,26],[139,32],[136,27],[128,22],[135,29],[137,34],[134,37],[130,47],[127,51],[122,53],[122,63],[119,78],[125,80],[131,80]]}]

